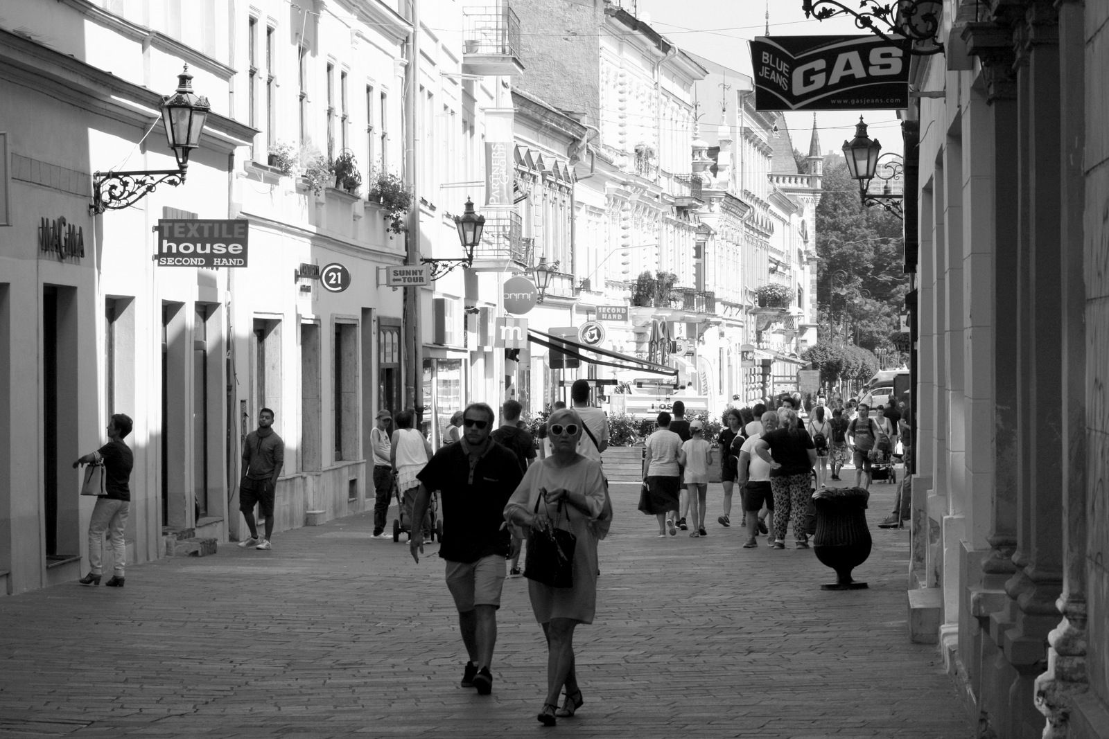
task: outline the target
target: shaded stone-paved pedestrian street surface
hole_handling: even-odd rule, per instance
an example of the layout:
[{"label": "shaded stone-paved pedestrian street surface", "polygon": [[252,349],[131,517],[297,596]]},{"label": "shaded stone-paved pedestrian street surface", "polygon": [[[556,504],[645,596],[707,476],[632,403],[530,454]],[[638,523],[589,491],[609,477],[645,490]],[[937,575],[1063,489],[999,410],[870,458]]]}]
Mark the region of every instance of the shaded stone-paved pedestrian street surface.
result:
[{"label": "shaded stone-paved pedestrian street surface", "polygon": [[908,640],[908,531],[876,527],[893,486],[872,490],[855,572],[871,587],[824,592],[834,573],[792,532],[784,551],[744,550],[715,523],[719,484],[709,536],[665,540],[638,486],[614,484],[597,622],[576,635],[586,704],[553,729],[535,718],[546,648],[527,581],[505,584],[478,696],[458,686],[438,545],[417,565],[363,514],[269,552],[132,566],[122,589],[0,598],[0,738],[971,737],[936,648]]}]

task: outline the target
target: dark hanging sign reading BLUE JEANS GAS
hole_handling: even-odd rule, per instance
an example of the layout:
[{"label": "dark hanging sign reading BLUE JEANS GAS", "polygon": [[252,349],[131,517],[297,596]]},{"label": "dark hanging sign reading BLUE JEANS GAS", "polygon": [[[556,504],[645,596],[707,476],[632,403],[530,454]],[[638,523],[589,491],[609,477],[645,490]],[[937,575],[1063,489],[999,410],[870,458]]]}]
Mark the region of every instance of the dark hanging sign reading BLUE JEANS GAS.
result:
[{"label": "dark hanging sign reading BLUE JEANS GAS", "polygon": [[755,109],[908,107],[908,39],[775,35],[751,41]]}]

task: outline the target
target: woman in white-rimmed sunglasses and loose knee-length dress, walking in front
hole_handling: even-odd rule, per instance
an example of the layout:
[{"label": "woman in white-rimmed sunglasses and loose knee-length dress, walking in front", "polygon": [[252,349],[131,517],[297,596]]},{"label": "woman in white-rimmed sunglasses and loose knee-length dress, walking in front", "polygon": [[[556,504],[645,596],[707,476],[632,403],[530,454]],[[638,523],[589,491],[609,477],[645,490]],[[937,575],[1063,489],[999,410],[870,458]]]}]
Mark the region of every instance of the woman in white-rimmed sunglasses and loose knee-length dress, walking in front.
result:
[{"label": "woman in white-rimmed sunglasses and loose knee-length dress, walking in front", "polygon": [[[547,438],[551,454],[528,468],[519,487],[505,506],[505,520],[523,530],[558,522],[578,537],[573,554],[573,587],[558,588],[528,581],[531,609],[547,637],[547,697],[537,718],[554,726],[569,718],[584,700],[573,659],[573,629],[593,623],[597,609],[597,542],[612,523],[612,503],[601,465],[578,453],[581,417],[564,408],[551,413]],[[538,509],[538,510],[537,510]],[[527,565],[525,564],[525,575]],[[562,708],[559,694],[566,688]]]}]

